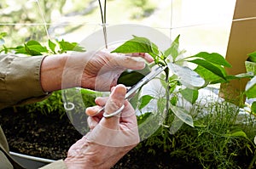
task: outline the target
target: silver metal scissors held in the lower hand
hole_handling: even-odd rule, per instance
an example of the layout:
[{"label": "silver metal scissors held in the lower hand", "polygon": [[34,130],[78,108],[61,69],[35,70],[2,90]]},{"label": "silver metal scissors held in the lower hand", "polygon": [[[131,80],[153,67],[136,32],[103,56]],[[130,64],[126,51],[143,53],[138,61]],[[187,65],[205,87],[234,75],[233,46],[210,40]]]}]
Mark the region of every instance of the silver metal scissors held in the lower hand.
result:
[{"label": "silver metal scissors held in the lower hand", "polygon": [[[143,79],[139,82],[137,82],[137,84],[133,85],[131,88],[129,88],[125,94],[125,99],[131,99],[131,97],[133,96],[134,93],[137,92],[137,90],[140,87],[143,87],[144,84],[146,84],[147,82],[151,81],[152,79],[154,79],[154,77],[158,76],[160,74],[160,72],[162,72],[163,70],[166,69],[167,66],[163,66],[163,65],[159,65],[156,66],[150,73],[148,73],[147,76],[144,76]],[[107,114],[106,112],[103,113],[103,116],[108,118],[108,117],[112,117],[114,115],[118,115],[123,109],[125,108],[125,105],[123,104],[119,110],[114,111],[111,114]],[[102,109],[98,110],[96,115],[100,112],[102,112],[103,110],[105,110],[105,106],[102,107]]]}]

